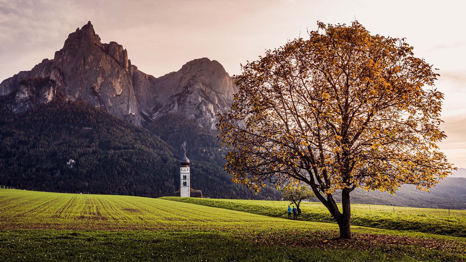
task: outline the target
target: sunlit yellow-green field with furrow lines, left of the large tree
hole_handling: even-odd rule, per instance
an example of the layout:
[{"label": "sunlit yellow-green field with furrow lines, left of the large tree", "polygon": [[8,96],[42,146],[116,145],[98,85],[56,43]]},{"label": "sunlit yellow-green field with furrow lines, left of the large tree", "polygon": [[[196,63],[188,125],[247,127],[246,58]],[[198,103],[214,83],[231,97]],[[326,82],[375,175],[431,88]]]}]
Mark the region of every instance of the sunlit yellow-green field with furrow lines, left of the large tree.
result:
[{"label": "sunlit yellow-green field with furrow lines, left of the large tree", "polygon": [[[301,223],[299,227],[310,227]],[[0,191],[0,229],[228,230],[293,228],[293,221],[179,203],[118,195]],[[329,225],[333,228],[333,225]]]}]

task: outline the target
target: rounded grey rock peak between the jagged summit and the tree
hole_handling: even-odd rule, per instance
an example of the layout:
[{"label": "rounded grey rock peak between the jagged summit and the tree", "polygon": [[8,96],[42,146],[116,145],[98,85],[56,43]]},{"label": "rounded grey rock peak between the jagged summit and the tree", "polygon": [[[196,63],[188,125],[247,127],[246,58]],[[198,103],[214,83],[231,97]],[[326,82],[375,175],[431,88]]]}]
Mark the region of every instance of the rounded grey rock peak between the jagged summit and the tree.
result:
[{"label": "rounded grey rock peak between the jagged summit and the tree", "polygon": [[[135,77],[133,76],[133,83]],[[177,72],[158,78],[143,78],[151,88],[138,95],[141,115],[155,119],[167,113],[180,113],[196,118],[207,128],[215,128],[217,112],[226,112],[238,91],[233,79],[217,61],[208,58],[187,62]],[[147,81],[144,81],[146,80]],[[135,88],[135,90],[139,90]],[[150,99],[140,99],[147,97]]]}]

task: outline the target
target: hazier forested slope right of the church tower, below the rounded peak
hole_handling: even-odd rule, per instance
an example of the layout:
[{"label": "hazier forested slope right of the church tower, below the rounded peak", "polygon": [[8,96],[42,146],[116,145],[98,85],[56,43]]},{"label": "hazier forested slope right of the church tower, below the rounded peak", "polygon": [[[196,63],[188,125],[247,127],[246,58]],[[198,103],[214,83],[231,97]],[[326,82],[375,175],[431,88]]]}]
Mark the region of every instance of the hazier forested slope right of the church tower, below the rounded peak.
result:
[{"label": "hazier forested slope right of the church tower, below the rounded peak", "polygon": [[[263,188],[255,195],[249,190],[245,191],[246,186],[230,186],[231,175],[223,167],[228,153],[226,148],[218,140],[217,131],[199,126],[196,119],[181,114],[167,114],[149,124],[148,129],[170,146],[177,159],[181,159],[183,149],[186,148],[186,155],[192,163],[192,188],[204,193],[211,192],[213,187],[220,187],[208,194],[212,198],[281,199],[281,193],[275,189]],[[198,179],[199,176],[202,179]]]}]

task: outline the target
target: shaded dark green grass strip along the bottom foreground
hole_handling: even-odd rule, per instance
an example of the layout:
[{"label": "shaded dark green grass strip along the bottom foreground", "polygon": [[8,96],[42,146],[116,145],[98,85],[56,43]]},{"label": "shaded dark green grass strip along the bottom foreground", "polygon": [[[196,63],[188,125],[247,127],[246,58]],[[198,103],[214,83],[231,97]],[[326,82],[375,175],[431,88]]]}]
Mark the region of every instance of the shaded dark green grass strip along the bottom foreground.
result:
[{"label": "shaded dark green grass strip along the bottom foreground", "polygon": [[[307,237],[308,235],[302,234]],[[282,240],[285,240],[280,235]],[[290,239],[286,239],[289,241]],[[324,240],[327,241],[327,240]],[[258,244],[237,232],[218,231],[0,231],[1,261],[459,261],[459,252],[378,245],[361,250],[327,242],[313,246]],[[316,248],[315,245],[319,247]]]}]

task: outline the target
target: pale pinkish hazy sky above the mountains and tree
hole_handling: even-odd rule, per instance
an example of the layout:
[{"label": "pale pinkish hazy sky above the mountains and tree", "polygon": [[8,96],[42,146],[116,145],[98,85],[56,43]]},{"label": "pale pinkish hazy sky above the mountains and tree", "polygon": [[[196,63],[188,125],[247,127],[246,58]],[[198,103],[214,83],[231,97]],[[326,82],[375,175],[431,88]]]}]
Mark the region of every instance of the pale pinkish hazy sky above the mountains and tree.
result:
[{"label": "pale pinkish hazy sky above the mountains and tree", "polygon": [[355,17],[373,34],[405,37],[440,69],[445,93],[440,149],[466,167],[466,34],[461,1],[325,0],[0,0],[0,81],[53,58],[68,34],[91,21],[102,42],[128,49],[131,63],[162,76],[192,59],[219,61],[230,75],[316,29]]}]

